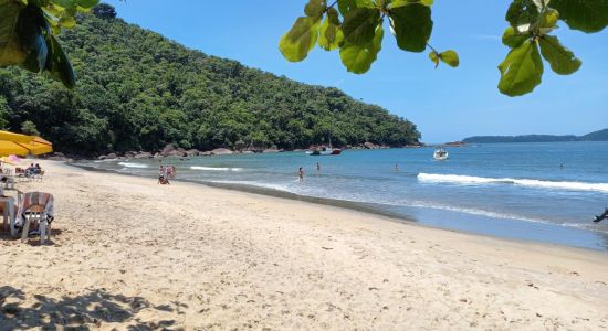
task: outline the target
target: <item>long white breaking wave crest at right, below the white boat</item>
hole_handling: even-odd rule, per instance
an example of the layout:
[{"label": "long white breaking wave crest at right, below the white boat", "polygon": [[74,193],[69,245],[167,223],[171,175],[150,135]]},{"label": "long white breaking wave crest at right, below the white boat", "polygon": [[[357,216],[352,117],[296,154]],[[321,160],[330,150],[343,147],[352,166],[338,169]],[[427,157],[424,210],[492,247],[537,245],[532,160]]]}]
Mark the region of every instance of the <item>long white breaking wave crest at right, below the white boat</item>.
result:
[{"label": "long white breaking wave crest at right, below the white boat", "polygon": [[526,188],[539,188],[549,190],[568,191],[593,191],[608,193],[608,183],[586,183],[586,182],[558,182],[535,179],[514,179],[514,178],[486,178],[460,174],[437,174],[419,173],[418,180],[421,182],[454,183],[463,185],[475,184],[513,184]]}]

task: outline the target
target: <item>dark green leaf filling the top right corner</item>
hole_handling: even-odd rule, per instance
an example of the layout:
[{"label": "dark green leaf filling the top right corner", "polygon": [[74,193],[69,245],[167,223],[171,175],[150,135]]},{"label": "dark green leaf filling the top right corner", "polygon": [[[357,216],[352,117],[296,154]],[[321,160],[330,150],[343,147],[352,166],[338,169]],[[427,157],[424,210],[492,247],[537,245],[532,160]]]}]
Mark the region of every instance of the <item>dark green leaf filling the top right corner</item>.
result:
[{"label": "dark green leaf filling the top right corner", "polygon": [[553,0],[551,7],[574,30],[593,33],[608,25],[607,0]]}]

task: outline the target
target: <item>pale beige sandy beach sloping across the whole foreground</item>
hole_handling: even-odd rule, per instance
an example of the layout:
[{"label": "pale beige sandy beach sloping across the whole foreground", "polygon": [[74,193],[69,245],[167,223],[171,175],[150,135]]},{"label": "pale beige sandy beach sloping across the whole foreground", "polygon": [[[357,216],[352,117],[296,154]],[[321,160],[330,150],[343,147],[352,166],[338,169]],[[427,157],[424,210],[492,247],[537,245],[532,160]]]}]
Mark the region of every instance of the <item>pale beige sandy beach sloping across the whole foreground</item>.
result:
[{"label": "pale beige sandy beach sloping across the whole foreground", "polygon": [[598,330],[608,254],[43,162],[52,244],[0,237],[0,329]]}]

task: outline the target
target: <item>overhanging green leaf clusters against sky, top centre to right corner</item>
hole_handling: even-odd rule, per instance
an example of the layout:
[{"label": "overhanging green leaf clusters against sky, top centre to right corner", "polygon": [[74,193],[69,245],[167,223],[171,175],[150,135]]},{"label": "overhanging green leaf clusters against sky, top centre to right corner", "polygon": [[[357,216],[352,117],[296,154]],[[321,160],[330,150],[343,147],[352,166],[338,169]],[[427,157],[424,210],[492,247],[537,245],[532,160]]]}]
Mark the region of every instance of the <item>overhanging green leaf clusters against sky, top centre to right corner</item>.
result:
[{"label": "overhanging green leaf clusters against sky, top centre to right corner", "polygon": [[[432,35],[433,0],[308,0],[303,17],[283,35],[279,49],[292,62],[306,58],[318,45],[339,50],[349,72],[369,71],[381,50],[385,22],[397,46],[406,52],[430,49],[436,67],[460,63],[452,50],[439,52],[429,44]],[[336,9],[337,8],[337,9]],[[563,21],[573,30],[599,32],[608,25],[608,0],[513,0],[505,15],[509,26],[503,43],[510,49],[499,65],[499,89],[509,96],[531,93],[541,84],[544,64],[559,75],[578,71],[581,61],[551,35]]]}]

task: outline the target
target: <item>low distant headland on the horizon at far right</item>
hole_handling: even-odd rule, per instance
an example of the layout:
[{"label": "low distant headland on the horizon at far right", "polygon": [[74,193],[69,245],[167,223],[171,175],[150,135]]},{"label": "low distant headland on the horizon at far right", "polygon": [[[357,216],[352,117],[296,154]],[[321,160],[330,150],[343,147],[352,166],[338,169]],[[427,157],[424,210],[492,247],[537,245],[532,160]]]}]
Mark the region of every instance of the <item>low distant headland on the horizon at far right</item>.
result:
[{"label": "low distant headland on the horizon at far right", "polygon": [[474,136],[463,139],[467,143],[499,143],[499,142],[565,142],[565,141],[608,141],[608,129],[594,131],[585,136]]}]

